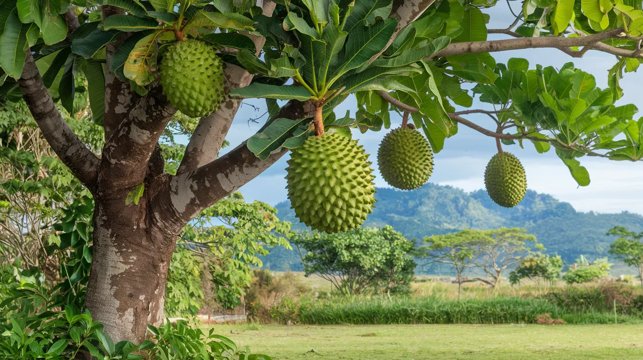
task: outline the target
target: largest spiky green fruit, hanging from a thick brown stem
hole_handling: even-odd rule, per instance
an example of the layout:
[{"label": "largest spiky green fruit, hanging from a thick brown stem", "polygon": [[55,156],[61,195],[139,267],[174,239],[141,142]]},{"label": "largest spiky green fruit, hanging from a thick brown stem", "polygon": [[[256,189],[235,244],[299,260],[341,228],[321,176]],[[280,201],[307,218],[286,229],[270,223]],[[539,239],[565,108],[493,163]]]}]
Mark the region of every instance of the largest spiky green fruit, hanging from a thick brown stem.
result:
[{"label": "largest spiky green fruit, hanging from a thick brown stem", "polygon": [[306,139],[293,149],[285,176],[297,218],[329,234],[359,227],[376,201],[370,164],[362,146],[339,133]]}]

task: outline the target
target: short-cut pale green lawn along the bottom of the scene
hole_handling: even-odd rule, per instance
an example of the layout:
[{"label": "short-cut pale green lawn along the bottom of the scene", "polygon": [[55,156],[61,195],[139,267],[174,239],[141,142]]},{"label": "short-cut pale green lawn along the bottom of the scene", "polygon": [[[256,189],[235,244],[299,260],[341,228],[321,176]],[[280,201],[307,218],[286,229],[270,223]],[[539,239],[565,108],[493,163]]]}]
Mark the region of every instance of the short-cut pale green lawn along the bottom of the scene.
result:
[{"label": "short-cut pale green lawn along the bottom of the scene", "polygon": [[[643,325],[215,325],[273,359],[643,359]],[[239,334],[231,333],[238,332]]]}]

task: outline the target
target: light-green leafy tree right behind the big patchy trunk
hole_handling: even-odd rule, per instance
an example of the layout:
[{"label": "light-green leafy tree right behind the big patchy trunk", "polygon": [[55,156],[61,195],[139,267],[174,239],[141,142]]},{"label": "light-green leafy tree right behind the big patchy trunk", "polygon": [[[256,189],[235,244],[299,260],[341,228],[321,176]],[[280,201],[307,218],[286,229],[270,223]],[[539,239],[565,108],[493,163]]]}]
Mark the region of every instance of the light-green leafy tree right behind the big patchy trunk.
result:
[{"label": "light-green leafy tree right behind the big patchy trunk", "polygon": [[[206,305],[232,309],[241,304],[252,280],[253,267],[262,266],[258,256],[267,255],[264,246],[290,248],[285,237],[289,233],[290,223],[280,221],[275,208],[261,201],[246,203],[240,193],[232,193],[203,210],[186,226],[178,244],[203,256]],[[175,260],[180,259],[173,255],[172,261]],[[172,277],[171,265],[169,276]]]}]

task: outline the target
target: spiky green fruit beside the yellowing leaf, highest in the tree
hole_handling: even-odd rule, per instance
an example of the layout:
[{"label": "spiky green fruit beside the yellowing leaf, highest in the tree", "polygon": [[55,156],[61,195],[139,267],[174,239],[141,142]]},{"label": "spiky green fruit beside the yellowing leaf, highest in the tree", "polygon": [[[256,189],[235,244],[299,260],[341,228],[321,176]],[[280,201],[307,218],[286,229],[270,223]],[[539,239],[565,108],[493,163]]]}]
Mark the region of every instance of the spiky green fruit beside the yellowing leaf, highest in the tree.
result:
[{"label": "spiky green fruit beside the yellowing leaf, highest in the tree", "polygon": [[208,116],[223,99],[223,62],[212,47],[199,40],[179,41],[161,60],[163,94],[190,117]]}]

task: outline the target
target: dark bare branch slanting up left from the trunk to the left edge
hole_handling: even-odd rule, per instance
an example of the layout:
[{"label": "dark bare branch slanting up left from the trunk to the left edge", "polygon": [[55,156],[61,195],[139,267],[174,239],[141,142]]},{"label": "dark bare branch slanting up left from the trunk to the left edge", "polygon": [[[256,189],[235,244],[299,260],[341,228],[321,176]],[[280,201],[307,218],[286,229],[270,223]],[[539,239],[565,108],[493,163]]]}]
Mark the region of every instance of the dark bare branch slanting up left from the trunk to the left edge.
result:
[{"label": "dark bare branch slanting up left from the trunk to the left edge", "polygon": [[27,103],[42,135],[62,162],[90,191],[96,188],[98,158],[64,121],[51,95],[42,83],[38,67],[33,61],[30,49],[26,51],[23,74],[18,80]]}]

